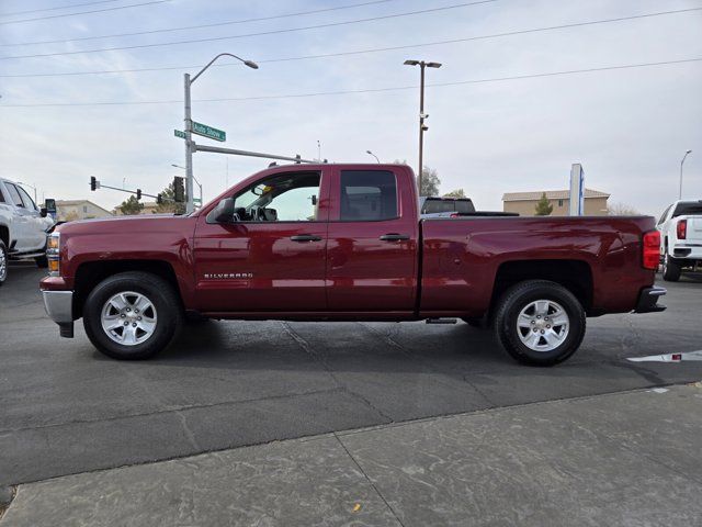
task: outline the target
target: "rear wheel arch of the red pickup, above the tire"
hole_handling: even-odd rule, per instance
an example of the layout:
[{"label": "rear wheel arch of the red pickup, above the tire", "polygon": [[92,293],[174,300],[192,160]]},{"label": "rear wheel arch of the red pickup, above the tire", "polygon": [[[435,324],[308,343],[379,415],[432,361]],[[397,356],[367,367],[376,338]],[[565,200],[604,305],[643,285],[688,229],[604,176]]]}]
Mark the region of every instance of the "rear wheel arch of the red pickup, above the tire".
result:
[{"label": "rear wheel arch of the red pickup, above the tire", "polygon": [[520,260],[500,265],[495,277],[490,312],[502,293],[524,280],[550,280],[570,291],[585,311],[592,305],[592,270],[582,260]]}]

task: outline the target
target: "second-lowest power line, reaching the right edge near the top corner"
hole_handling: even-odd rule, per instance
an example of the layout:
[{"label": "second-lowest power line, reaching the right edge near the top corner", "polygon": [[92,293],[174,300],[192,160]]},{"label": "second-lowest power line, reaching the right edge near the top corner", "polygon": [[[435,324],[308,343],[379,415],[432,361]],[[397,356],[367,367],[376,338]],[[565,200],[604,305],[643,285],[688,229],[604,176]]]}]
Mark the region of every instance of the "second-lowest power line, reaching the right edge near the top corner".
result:
[{"label": "second-lowest power line, reaching the right edge near the top corner", "polygon": [[[332,57],[343,57],[350,55],[362,55],[366,53],[381,53],[381,52],[390,52],[390,51],[399,51],[399,49],[410,49],[417,47],[428,47],[428,46],[438,46],[445,44],[457,44],[463,42],[471,41],[480,41],[480,40],[489,40],[489,38],[498,38],[503,36],[513,36],[513,35],[523,35],[529,33],[539,33],[543,31],[555,31],[555,30],[565,30],[571,27],[581,27],[587,25],[597,25],[597,24],[607,24],[612,22],[623,22],[629,20],[636,19],[645,19],[652,16],[661,16],[666,14],[675,14],[675,13],[683,13],[688,11],[701,11],[702,8],[691,8],[683,9],[677,11],[663,11],[656,13],[645,13],[645,14],[636,14],[631,16],[619,16],[615,19],[603,19],[603,20],[591,20],[586,22],[575,22],[571,24],[561,24],[561,25],[550,25],[544,27],[531,27],[526,30],[517,30],[509,31],[503,33],[492,33],[488,35],[476,35],[476,36],[467,36],[463,38],[451,38],[448,41],[434,41],[434,42],[424,42],[420,44],[406,44],[401,46],[387,46],[387,47],[374,47],[367,49],[352,49],[348,52],[337,52],[337,53],[324,53],[316,55],[302,55],[297,57],[278,57],[278,58],[267,58],[259,59],[257,63],[267,64],[267,63],[284,63],[284,61],[294,61],[294,60],[306,60],[306,59],[315,59],[315,58],[332,58]],[[215,64],[214,67],[230,67],[230,66],[239,66],[240,63],[236,64]],[[189,66],[168,66],[161,68],[132,68],[132,69],[106,69],[106,70],[97,70],[97,71],[63,71],[58,74],[18,74],[18,75],[0,75],[0,78],[27,78],[27,77],[63,77],[63,76],[76,76],[76,75],[102,75],[102,74],[132,74],[132,72],[143,72],[143,71],[170,71],[170,70],[183,70],[183,69],[192,69],[200,68],[201,64],[197,65],[189,65]]]}]

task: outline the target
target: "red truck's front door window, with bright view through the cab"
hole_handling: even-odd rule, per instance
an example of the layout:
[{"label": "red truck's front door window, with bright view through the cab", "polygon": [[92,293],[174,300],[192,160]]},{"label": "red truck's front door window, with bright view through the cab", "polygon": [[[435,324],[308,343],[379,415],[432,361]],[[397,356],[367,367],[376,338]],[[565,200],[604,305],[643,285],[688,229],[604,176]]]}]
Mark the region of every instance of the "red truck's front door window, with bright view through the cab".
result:
[{"label": "red truck's front door window, with bright view through the cab", "polygon": [[292,172],[257,181],[235,197],[242,222],[316,222],[319,172]]}]

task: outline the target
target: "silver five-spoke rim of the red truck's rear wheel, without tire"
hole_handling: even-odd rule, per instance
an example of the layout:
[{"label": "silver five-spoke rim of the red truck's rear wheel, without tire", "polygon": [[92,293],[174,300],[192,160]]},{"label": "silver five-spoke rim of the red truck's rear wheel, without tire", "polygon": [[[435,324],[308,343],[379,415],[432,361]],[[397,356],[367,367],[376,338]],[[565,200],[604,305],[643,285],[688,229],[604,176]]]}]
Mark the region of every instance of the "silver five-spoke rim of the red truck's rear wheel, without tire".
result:
[{"label": "silver five-spoke rim of the red truck's rear wheel, without tire", "polygon": [[552,351],[568,336],[570,318],[553,300],[536,300],[517,317],[517,333],[524,346],[534,351]]}]

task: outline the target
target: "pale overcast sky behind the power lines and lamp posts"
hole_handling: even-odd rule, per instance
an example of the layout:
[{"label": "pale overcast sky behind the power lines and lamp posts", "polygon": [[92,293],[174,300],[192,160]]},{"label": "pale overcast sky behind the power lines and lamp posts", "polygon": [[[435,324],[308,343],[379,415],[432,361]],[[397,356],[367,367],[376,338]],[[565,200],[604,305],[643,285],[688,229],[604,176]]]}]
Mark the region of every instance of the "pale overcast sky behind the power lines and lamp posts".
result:
[{"label": "pale overcast sky behind the power lines and lamp posts", "polygon": [[[170,0],[56,16],[147,1],[102,0],[35,11],[89,1],[0,2],[0,175],[36,183],[39,199],[87,198],[107,209],[125,194],[91,193],[90,176],[105,184],[122,187],[124,181],[127,188],[157,193],[179,175],[171,164],[184,162],[182,139],[173,136],[173,128],[183,126],[183,72],[196,72],[197,65],[222,52],[261,66],[252,70],[225,58],[223,67],[211,68],[193,85],[193,119],[225,130],[225,146],[313,158],[320,141],[321,156],[330,161],[372,161],[365,154],[371,149],[382,161],[407,159],[412,168],[418,153],[419,70],[403,66],[406,58],[443,63],[441,69],[427,71],[428,85],[702,58],[702,11],[427,45],[702,7],[689,0],[497,0],[393,18],[387,15],[467,2]],[[197,30],[13,45],[283,14],[290,15]],[[385,18],[242,36],[378,16]],[[12,23],[36,18],[44,20]],[[233,38],[72,53],[214,37]],[[396,46],[417,47],[273,60]],[[18,56],[24,57],[11,58]],[[165,67],[174,69],[26,77]],[[385,88],[406,89],[197,101]],[[442,192],[463,188],[478,209],[501,210],[505,192],[567,188],[570,165],[581,162],[586,187],[611,193],[610,203],[623,202],[657,215],[677,199],[680,159],[687,149],[693,152],[684,164],[683,197],[702,199],[701,93],[702,61],[428,86],[424,164],[438,170]],[[151,101],[174,102],[144,103]],[[35,105],[98,102],[143,104]],[[267,164],[229,157],[229,186]],[[194,167],[205,200],[225,189],[225,156],[195,154]]]}]

